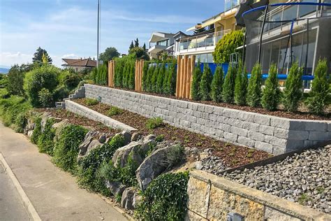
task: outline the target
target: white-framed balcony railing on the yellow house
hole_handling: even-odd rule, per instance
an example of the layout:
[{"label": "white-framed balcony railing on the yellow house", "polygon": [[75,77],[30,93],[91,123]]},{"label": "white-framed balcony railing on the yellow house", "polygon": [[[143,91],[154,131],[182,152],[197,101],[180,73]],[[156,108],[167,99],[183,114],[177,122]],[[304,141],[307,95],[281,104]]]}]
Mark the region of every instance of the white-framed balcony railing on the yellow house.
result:
[{"label": "white-framed balcony railing on the yellow house", "polygon": [[223,36],[230,33],[230,31],[231,31],[230,29],[227,29],[210,34],[182,38],[179,41],[179,51],[190,50],[194,48],[196,49],[207,48],[208,46],[216,45],[219,39],[223,38]]}]

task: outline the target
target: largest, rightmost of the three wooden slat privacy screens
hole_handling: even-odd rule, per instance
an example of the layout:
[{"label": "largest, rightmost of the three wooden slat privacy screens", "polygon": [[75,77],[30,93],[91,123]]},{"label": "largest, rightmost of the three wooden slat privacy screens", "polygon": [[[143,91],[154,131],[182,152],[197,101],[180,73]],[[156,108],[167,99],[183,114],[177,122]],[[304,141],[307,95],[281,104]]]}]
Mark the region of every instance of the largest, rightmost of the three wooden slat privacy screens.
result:
[{"label": "largest, rightmost of the three wooden slat privacy screens", "polygon": [[188,55],[177,57],[176,97],[191,99],[191,83],[193,70],[196,66],[196,56]]}]

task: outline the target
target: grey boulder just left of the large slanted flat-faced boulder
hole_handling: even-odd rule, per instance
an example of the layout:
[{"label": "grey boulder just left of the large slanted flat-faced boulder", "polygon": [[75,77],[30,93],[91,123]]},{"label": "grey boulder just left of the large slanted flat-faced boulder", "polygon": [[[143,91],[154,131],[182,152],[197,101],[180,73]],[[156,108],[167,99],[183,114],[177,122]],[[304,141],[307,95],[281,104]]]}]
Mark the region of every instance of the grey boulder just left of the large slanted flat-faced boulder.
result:
[{"label": "grey boulder just left of the large slanted flat-faced boulder", "polygon": [[[124,147],[119,148],[115,151],[112,156],[112,162],[115,167],[121,166],[124,167],[128,162],[128,156],[131,154],[133,160],[140,165],[144,160],[147,151],[149,150],[149,143],[155,141],[155,136],[146,136],[144,139],[140,141],[133,141],[124,145]],[[132,152],[132,153],[131,153]]]}]

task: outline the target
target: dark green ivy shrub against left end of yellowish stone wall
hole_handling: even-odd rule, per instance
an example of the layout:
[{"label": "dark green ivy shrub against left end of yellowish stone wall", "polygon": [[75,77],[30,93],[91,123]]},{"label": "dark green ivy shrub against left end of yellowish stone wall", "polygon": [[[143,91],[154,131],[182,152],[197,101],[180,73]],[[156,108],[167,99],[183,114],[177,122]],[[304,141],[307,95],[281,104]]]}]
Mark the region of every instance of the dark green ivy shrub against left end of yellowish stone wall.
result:
[{"label": "dark green ivy shrub against left end of yellowish stone wall", "polygon": [[165,173],[152,180],[135,211],[138,220],[184,220],[189,173]]}]

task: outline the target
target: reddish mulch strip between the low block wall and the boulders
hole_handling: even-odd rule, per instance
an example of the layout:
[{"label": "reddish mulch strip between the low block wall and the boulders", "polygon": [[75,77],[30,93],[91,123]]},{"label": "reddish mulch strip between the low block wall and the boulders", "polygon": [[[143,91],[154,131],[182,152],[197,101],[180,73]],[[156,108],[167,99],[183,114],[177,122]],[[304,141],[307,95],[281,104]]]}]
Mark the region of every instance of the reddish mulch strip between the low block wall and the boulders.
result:
[{"label": "reddish mulch strip between the low block wall and the boulders", "polygon": [[58,118],[61,118],[61,120],[67,119],[70,124],[77,124],[82,127],[94,128],[97,131],[108,134],[109,136],[113,136],[119,132],[119,130],[117,130],[117,129],[112,129],[110,127],[106,127],[101,122],[89,120],[87,117],[77,115],[77,114],[72,113],[67,110],[41,108],[41,109],[36,109],[36,111],[43,112],[43,113],[44,112],[50,113],[50,115],[52,115],[52,117],[58,117]]}]

